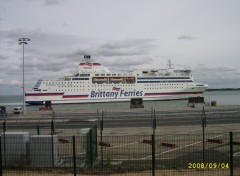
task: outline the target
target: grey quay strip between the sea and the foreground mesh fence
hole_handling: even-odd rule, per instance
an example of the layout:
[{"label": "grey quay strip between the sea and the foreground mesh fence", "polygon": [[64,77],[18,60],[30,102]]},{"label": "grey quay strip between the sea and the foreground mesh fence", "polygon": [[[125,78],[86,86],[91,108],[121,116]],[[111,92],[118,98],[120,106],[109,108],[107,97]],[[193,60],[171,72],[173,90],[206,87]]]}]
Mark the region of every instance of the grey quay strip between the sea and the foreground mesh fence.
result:
[{"label": "grey quay strip between the sea and the foreground mesh fence", "polygon": [[[36,126],[47,125],[52,120],[61,126],[71,128],[78,126],[85,128],[92,125],[99,127],[100,120],[104,121],[105,129],[129,128],[136,131],[138,128],[149,129],[151,132],[152,119],[155,116],[157,129],[171,130],[177,127],[201,126],[203,115],[206,116],[207,126],[226,126],[240,122],[240,106],[203,106],[196,104],[192,107],[164,107],[161,109],[139,108],[139,109],[110,109],[110,110],[68,110],[68,111],[28,111],[27,115],[8,114],[1,118],[1,122],[8,122],[14,126]],[[8,126],[11,126],[10,124]],[[230,125],[231,126],[231,125]],[[220,127],[220,129],[221,129]],[[181,128],[180,128],[181,129]],[[183,128],[184,129],[184,128]],[[231,129],[229,129],[231,130]],[[214,131],[214,130],[213,130]],[[124,132],[128,133],[129,130]]]}]

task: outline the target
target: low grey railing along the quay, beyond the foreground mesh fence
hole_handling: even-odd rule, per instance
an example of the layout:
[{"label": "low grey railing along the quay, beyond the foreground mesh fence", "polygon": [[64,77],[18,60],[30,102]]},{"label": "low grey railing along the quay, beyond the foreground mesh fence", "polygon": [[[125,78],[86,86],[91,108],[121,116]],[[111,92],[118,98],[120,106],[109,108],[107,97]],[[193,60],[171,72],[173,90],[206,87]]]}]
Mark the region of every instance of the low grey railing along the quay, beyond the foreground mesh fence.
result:
[{"label": "low grey railing along the quay, beyond the foreground mesh fence", "polygon": [[[105,119],[125,119],[125,118],[148,118],[151,116],[151,110],[144,110],[144,111],[122,111],[121,113],[117,111],[104,111],[104,118]],[[179,117],[198,117],[201,115],[202,109],[186,109],[186,110],[157,110],[156,118],[159,119],[176,119]],[[209,118],[221,118],[221,117],[240,117],[240,108],[223,108],[223,109],[205,109]],[[57,119],[59,121],[66,121],[66,120],[89,120],[89,119],[98,119],[99,117],[98,111],[92,112],[54,112],[53,113],[40,113],[38,116],[34,117],[22,117],[22,116],[15,116],[15,117],[4,117],[0,120],[9,120],[9,121],[45,121],[49,119]]]}]

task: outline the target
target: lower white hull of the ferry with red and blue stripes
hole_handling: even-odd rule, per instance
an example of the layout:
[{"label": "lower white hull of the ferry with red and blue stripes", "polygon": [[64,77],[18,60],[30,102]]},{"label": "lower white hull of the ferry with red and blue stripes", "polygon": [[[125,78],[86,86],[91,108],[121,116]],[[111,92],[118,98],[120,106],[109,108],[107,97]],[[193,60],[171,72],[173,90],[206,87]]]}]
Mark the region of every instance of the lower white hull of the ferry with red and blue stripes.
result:
[{"label": "lower white hull of the ferry with red and blue stripes", "polygon": [[[121,96],[121,97],[91,97],[91,93],[83,95],[65,95],[63,93],[49,93],[47,96],[41,93],[27,94],[26,103],[32,105],[45,104],[45,101],[51,101],[52,104],[80,104],[80,103],[101,103],[101,102],[130,102],[131,98],[142,98],[143,101],[159,101],[159,100],[178,100],[188,99],[189,97],[201,96],[206,86],[194,91],[181,92],[150,92],[144,93],[143,96]],[[113,92],[117,93],[117,92]]]}]

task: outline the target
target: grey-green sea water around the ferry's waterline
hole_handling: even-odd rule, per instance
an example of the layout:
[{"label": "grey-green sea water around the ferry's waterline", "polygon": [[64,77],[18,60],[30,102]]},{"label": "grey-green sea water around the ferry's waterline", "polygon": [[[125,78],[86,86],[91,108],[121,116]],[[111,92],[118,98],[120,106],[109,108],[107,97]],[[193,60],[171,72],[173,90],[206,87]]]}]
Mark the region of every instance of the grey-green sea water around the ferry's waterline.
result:
[{"label": "grey-green sea water around the ferry's waterline", "polygon": [[[240,105],[240,91],[207,91],[203,94],[205,102],[216,101],[217,105]],[[6,106],[7,111],[12,111],[16,106],[22,106],[22,95],[0,95],[0,106]],[[145,108],[159,109],[161,107],[186,107],[187,100],[171,101],[146,101]],[[39,110],[41,106],[26,106],[27,110]],[[107,110],[126,109],[130,102],[121,103],[91,103],[91,104],[60,104],[53,105],[54,110]]]}]

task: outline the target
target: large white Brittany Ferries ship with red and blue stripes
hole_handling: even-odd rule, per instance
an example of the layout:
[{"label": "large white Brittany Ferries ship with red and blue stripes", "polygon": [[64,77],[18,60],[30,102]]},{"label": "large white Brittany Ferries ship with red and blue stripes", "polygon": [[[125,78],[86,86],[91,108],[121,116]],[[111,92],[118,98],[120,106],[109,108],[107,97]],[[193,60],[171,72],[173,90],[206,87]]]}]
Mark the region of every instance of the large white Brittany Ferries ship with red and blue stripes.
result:
[{"label": "large white Brittany Ferries ship with red and blue stripes", "polygon": [[200,96],[208,85],[195,83],[191,70],[176,70],[169,60],[167,69],[137,69],[111,72],[90,55],[85,55],[78,71],[55,81],[38,80],[25,93],[30,105],[63,103],[122,102],[132,98],[177,100]]}]

